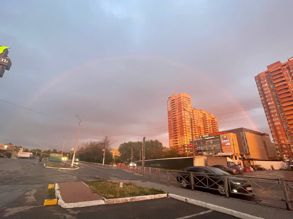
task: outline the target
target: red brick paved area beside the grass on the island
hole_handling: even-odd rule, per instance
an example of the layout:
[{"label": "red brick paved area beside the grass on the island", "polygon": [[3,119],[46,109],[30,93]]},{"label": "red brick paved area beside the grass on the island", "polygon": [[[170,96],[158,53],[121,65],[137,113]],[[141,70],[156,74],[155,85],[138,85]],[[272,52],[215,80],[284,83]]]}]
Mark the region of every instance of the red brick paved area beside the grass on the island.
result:
[{"label": "red brick paved area beside the grass on the island", "polygon": [[103,200],[98,194],[91,192],[91,189],[83,182],[58,183],[59,192],[65,203]]}]

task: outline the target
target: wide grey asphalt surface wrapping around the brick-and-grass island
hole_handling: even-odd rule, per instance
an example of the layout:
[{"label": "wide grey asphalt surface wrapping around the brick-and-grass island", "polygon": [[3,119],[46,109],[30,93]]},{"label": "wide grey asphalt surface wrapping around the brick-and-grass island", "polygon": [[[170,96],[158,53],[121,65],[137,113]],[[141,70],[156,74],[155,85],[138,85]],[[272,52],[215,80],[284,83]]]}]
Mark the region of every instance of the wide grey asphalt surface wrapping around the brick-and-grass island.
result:
[{"label": "wide grey asphalt surface wrapping around the brick-and-grass island", "polygon": [[42,206],[51,183],[142,179],[110,166],[82,163],[79,170],[69,171],[44,168],[38,160],[0,159],[0,173],[0,218],[235,218],[171,198],[68,209]]}]

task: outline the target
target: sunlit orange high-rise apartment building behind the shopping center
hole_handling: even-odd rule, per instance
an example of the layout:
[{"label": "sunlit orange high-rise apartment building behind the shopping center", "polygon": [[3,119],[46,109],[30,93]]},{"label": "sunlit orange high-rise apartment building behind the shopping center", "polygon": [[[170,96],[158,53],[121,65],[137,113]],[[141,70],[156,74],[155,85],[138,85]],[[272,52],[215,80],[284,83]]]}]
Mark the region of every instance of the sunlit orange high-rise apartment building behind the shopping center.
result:
[{"label": "sunlit orange high-rise apartment building behind the shopping center", "polygon": [[186,93],[174,94],[168,99],[168,128],[169,146],[175,148],[178,153],[192,153],[189,147],[191,138],[190,114],[193,115],[194,137],[214,133],[219,131],[218,121],[213,114],[208,114],[205,110],[197,110],[191,106],[190,95]]}]

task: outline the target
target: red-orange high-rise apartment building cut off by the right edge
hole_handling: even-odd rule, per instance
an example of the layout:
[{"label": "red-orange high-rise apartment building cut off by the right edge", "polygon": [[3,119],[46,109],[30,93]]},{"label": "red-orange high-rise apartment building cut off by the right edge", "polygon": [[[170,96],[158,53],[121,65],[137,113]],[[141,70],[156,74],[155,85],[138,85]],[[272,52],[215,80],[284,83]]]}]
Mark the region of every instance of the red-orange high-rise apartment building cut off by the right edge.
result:
[{"label": "red-orange high-rise apartment building cut off by the right edge", "polygon": [[255,76],[278,156],[293,156],[293,57]]}]

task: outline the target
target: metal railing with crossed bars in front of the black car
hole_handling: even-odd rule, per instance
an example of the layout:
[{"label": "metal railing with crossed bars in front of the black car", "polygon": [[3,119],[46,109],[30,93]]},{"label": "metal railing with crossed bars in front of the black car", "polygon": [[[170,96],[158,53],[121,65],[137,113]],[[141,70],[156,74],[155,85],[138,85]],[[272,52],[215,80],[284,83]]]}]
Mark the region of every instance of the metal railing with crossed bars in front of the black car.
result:
[{"label": "metal railing with crossed bars in front of the black car", "polygon": [[167,185],[293,210],[293,180],[167,171]]}]

